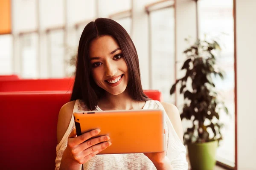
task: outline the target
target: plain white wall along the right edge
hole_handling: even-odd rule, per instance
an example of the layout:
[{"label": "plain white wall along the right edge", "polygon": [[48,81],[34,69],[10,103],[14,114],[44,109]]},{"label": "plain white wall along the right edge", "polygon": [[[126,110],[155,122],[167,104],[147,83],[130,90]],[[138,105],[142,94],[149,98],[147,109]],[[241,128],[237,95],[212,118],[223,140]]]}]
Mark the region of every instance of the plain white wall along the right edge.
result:
[{"label": "plain white wall along the right edge", "polygon": [[238,170],[256,170],[256,0],[236,1]]}]

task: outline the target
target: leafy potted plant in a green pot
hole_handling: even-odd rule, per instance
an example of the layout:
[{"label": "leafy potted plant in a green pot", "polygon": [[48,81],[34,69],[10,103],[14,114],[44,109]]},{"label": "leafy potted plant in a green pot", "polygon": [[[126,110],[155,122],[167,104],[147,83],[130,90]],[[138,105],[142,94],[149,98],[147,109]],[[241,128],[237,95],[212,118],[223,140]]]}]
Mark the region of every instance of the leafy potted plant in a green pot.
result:
[{"label": "leafy potted plant in a green pot", "polygon": [[183,136],[192,170],[214,168],[216,149],[222,139],[219,113],[228,113],[228,110],[218,98],[212,81],[213,76],[224,79],[223,71],[216,64],[220,50],[216,41],[196,40],[183,52],[187,57],[181,68],[186,71],[185,76],[177,79],[170,90],[170,94],[174,94],[176,85],[180,84],[179,92],[184,96],[180,118],[192,121],[192,127],[187,128]]}]

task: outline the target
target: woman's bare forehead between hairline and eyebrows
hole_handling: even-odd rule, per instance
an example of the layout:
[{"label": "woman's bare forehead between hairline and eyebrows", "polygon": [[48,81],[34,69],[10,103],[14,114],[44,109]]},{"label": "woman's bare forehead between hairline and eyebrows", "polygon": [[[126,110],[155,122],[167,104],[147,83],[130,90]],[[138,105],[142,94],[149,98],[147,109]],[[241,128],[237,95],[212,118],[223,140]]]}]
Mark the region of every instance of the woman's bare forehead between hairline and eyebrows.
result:
[{"label": "woman's bare forehead between hairline and eyebrows", "polygon": [[101,36],[90,43],[90,57],[108,56],[116,48],[119,48],[119,45],[113,37],[109,35]]}]

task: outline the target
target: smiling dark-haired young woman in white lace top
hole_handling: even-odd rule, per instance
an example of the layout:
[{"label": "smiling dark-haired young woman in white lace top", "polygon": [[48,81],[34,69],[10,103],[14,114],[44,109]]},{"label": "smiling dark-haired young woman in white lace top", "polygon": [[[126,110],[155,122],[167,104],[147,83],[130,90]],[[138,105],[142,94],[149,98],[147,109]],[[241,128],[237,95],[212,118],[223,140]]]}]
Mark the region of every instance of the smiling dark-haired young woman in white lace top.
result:
[{"label": "smiling dark-haired young woman in white lace top", "polygon": [[[165,152],[97,155],[111,146],[109,136],[90,139],[99,129],[76,136],[75,111],[131,109],[165,111]],[[143,93],[134,43],[122,26],[106,18],[90,22],[81,34],[73,92],[59,112],[57,140],[55,170],[188,169],[177,108],[150,100]]]}]

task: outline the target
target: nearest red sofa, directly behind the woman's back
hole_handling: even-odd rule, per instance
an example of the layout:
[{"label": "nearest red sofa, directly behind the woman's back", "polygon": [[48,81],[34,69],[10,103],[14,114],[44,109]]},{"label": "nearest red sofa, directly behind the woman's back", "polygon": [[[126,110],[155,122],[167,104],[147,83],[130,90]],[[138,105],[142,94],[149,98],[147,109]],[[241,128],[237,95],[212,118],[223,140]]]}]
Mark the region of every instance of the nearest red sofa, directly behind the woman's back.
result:
[{"label": "nearest red sofa, directly behind the woman's back", "polygon": [[[159,91],[145,91],[161,101]],[[70,91],[0,93],[0,169],[53,170],[58,112]]]}]

